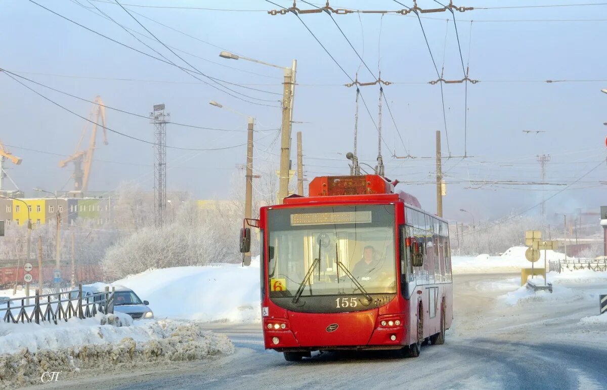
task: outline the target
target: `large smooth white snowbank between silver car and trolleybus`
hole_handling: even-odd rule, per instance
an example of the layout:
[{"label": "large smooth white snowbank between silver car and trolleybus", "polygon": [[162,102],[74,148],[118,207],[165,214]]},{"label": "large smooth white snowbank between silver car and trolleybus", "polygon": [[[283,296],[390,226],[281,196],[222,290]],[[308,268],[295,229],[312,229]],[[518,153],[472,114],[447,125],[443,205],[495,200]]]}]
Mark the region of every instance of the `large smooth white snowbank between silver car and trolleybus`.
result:
[{"label": "large smooth white snowbank between silver car and trolleybus", "polygon": [[149,301],[156,318],[259,322],[259,259],[251,266],[215,264],[148,270],[120,279]]}]

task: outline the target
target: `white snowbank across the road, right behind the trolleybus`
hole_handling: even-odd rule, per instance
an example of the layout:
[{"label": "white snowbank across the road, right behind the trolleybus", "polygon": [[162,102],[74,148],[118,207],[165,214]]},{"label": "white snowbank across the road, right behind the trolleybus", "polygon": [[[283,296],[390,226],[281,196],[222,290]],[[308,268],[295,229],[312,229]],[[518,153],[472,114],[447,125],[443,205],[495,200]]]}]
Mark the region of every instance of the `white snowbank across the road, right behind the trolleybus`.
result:
[{"label": "white snowbank across the road, right behind the trolleybus", "polygon": [[[453,273],[490,273],[490,272],[520,272],[521,268],[530,268],[531,262],[525,258],[527,247],[512,247],[500,256],[487,254],[478,256],[452,256]],[[564,253],[553,250],[546,251],[548,261],[564,259]],[[535,262],[537,267],[544,267],[544,251],[540,251],[540,259]]]}]

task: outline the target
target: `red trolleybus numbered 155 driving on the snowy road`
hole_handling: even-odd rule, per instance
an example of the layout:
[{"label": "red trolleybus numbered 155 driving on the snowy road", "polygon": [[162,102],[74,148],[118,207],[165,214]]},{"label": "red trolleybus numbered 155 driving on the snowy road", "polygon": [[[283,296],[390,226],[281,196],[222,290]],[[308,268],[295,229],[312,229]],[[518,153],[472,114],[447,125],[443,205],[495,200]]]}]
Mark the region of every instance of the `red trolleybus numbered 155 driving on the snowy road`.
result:
[{"label": "red trolleybus numbered 155 driving on the snowy road", "polygon": [[[417,357],[452,322],[447,222],[378,175],[316,177],[310,196],[262,207],[266,349],[394,349]],[[241,250],[248,247],[241,232]],[[248,248],[247,248],[248,249]]]}]

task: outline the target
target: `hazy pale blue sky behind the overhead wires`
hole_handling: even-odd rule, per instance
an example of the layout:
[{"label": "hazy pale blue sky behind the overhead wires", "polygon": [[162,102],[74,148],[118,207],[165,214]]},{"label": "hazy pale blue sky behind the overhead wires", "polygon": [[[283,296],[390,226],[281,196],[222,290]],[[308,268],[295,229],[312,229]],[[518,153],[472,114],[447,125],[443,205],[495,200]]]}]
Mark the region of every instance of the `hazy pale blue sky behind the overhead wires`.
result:
[{"label": "hazy pale blue sky behind the overhead wires", "polygon": [[[111,0],[36,0],[67,18],[103,33],[138,50],[159,56],[114,22],[99,15],[97,6],[115,21],[143,35],[135,36],[180,66],[179,58],[150,39],[141,26]],[[290,1],[274,1],[290,6]],[[537,4],[570,4],[572,0],[546,0]],[[345,152],[353,149],[354,99],[356,91],[330,56],[310,35],[295,15],[271,16],[266,12],[174,9],[166,6],[210,9],[270,10],[265,1],[168,1],[124,0],[125,7],[163,43],[211,77],[247,84],[263,91],[232,89],[278,105],[282,94],[279,69],[244,60],[226,60],[220,50],[230,50],[259,60],[288,66],[297,63],[297,87],[293,141],[303,132],[306,176],[348,173]],[[333,5],[333,2],[331,2]],[[461,3],[461,4],[460,4]],[[160,5],[165,8],[136,7]],[[310,5],[297,2],[301,9]],[[320,4],[320,3],[319,3]],[[405,2],[409,4],[409,2]],[[529,5],[529,1],[494,2],[467,0],[456,5],[497,7]],[[438,7],[433,1],[418,2],[422,9]],[[341,0],[334,7],[397,10],[392,1]],[[78,97],[93,100],[100,95],[108,106],[148,115],[152,105],[165,103],[175,122],[223,129],[246,129],[246,120],[215,108],[215,100],[257,119],[254,164],[277,165],[280,109],[230,97],[203,84],[178,67],[154,60],[95,35],[66,19],[53,15],[29,0],[2,1],[0,10],[0,67]],[[467,221],[460,208],[473,211],[476,219],[493,219],[522,211],[551,196],[564,186],[528,186],[506,183],[481,185],[477,180],[500,182],[540,180],[537,154],[550,154],[547,181],[568,184],[605,160],[607,126],[607,6],[533,7],[477,9],[456,12],[464,65],[469,63],[467,154],[469,159],[445,160],[447,197],[445,216]],[[148,19],[149,18],[149,19]],[[359,80],[373,81],[354,50],[326,14],[301,15],[345,71]],[[447,22],[446,19],[449,18]],[[151,20],[153,19],[153,21]],[[443,135],[443,154],[464,153],[464,84],[444,85],[447,133],[444,129],[440,85],[422,30],[415,16],[350,14],[334,15],[365,63],[382,80],[392,85],[384,91],[401,132],[396,133],[384,104],[382,131],[389,151],[382,145],[386,176],[416,184],[399,185],[415,194],[422,206],[435,210],[434,161],[395,159],[405,156],[433,156],[435,131]],[[470,20],[473,20],[472,24]],[[534,21],[524,21],[524,20]],[[551,21],[544,21],[549,19]],[[569,21],[553,21],[569,19]],[[571,21],[586,19],[586,21]],[[592,21],[588,21],[592,19]],[[521,21],[522,20],[522,21]],[[540,21],[538,21],[540,20]],[[161,26],[158,22],[168,27]],[[424,14],[422,24],[438,70],[444,78],[463,78],[462,64],[452,15]],[[472,32],[470,32],[472,26]],[[178,30],[178,31],[177,31]],[[381,30],[381,38],[380,32]],[[190,36],[186,36],[190,35]],[[471,43],[471,44],[469,44]],[[183,53],[187,52],[187,53]],[[226,67],[229,66],[229,67]],[[61,76],[59,76],[61,75]],[[203,80],[208,79],[201,77]],[[123,79],[123,80],[117,80]],[[125,80],[126,79],[126,80]],[[545,83],[542,80],[598,80]],[[603,80],[603,81],[600,81]],[[58,94],[41,86],[30,87],[77,114],[87,116],[92,104]],[[228,84],[226,84],[228,85]],[[72,166],[59,168],[58,161],[75,151],[84,120],[35,95],[5,75],[0,75],[0,139],[23,158],[10,166],[9,174],[29,191],[33,186],[48,190],[70,189]],[[362,95],[378,121],[377,86],[361,87]],[[124,134],[153,140],[153,126],[146,118],[107,111],[107,126]],[[265,130],[265,131],[262,131]],[[543,130],[526,134],[523,130]],[[241,145],[246,132],[207,131],[168,125],[167,144],[183,148],[217,148]],[[449,148],[447,148],[447,136]],[[152,188],[152,146],[109,132],[109,145],[95,151],[90,190],[112,190],[121,182]],[[375,165],[377,131],[361,104],[358,154]],[[88,138],[84,143],[88,142]],[[293,142],[293,151],[295,142]],[[405,147],[407,151],[405,151]],[[41,153],[36,151],[44,151]],[[293,160],[295,160],[294,154]],[[245,146],[223,151],[168,150],[169,190],[191,191],[197,198],[224,197],[237,164],[245,162]],[[8,165],[9,163],[7,163]],[[258,166],[259,166],[258,165]],[[597,209],[606,201],[604,186],[607,164],[599,166],[576,185],[548,202],[548,213],[574,211],[577,207]],[[530,211],[537,213],[537,209]]]}]

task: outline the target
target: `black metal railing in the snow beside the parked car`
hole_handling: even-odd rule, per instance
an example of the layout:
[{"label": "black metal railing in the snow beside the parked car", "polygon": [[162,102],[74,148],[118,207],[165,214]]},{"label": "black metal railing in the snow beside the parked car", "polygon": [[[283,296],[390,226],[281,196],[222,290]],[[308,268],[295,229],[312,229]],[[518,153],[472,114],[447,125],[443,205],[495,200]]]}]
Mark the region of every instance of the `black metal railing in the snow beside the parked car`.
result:
[{"label": "black metal railing in the snow beside the parked car", "polygon": [[[34,300],[30,304],[30,300]],[[5,323],[41,323],[48,321],[57,324],[57,321],[77,317],[80,319],[90,318],[97,313],[114,312],[114,291],[106,287],[104,292],[83,296],[82,285],[78,290],[25,296],[23,298],[12,298],[0,301],[0,315]],[[19,301],[21,304],[19,304]],[[17,315],[13,312],[18,311]]]}]

